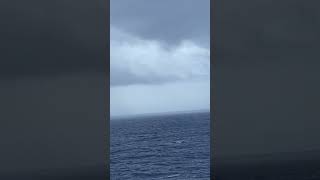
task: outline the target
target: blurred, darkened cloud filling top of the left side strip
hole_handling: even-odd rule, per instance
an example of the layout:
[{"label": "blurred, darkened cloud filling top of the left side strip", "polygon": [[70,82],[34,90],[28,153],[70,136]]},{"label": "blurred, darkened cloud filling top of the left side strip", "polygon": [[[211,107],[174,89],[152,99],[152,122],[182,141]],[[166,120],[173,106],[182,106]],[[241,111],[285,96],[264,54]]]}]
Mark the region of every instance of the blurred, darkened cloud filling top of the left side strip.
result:
[{"label": "blurred, darkened cloud filling top of the left side strip", "polygon": [[105,71],[103,0],[13,0],[0,8],[1,77]]}]

